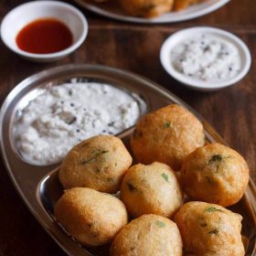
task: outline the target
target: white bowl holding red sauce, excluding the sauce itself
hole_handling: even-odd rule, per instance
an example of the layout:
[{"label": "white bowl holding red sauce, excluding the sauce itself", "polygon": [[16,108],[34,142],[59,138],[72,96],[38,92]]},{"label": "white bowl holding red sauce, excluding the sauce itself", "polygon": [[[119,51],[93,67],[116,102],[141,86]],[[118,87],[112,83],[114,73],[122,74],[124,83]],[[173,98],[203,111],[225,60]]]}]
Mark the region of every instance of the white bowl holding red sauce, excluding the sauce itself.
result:
[{"label": "white bowl holding red sauce, excluding the sauce itself", "polygon": [[[64,50],[49,54],[34,54],[18,48],[16,44],[18,32],[28,23],[38,18],[48,17],[56,18],[69,27],[73,36],[72,45]],[[1,24],[1,37],[5,46],[21,57],[37,62],[49,62],[68,56],[80,47],[87,33],[88,23],[80,10],[58,1],[35,1],[18,5],[4,17]]]}]

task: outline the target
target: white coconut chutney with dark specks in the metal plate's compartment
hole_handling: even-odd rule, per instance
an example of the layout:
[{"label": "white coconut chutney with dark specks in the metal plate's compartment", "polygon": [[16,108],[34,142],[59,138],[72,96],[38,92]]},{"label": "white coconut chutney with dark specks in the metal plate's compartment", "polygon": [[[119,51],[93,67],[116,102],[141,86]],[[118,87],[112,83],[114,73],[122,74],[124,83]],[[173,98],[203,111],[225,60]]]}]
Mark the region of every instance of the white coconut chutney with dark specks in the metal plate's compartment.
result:
[{"label": "white coconut chutney with dark specks in the metal plate's compartment", "polygon": [[73,80],[53,86],[30,101],[17,118],[17,150],[37,165],[57,163],[82,140],[133,126],[141,115],[137,96],[98,82]]}]

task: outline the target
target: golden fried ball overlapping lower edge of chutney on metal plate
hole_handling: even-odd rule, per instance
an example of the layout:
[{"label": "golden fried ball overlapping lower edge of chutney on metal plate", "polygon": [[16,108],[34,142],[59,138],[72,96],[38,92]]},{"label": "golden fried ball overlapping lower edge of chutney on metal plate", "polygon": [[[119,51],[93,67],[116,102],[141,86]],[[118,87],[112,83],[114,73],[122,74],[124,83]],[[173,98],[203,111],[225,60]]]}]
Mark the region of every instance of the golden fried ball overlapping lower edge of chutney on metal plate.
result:
[{"label": "golden fried ball overlapping lower edge of chutney on metal plate", "polygon": [[124,172],[132,165],[121,139],[99,135],[75,145],[59,168],[63,187],[91,187],[106,193],[116,193]]}]

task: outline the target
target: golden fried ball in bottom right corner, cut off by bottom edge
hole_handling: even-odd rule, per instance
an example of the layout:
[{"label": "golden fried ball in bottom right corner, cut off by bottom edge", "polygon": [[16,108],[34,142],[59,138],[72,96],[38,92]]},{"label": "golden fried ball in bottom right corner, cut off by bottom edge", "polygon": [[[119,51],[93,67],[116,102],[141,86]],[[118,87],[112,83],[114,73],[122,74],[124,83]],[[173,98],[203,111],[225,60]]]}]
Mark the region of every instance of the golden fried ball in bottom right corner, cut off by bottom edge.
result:
[{"label": "golden fried ball in bottom right corner, cut off by bottom edge", "polygon": [[188,202],[175,217],[185,255],[244,256],[241,219],[219,205]]}]

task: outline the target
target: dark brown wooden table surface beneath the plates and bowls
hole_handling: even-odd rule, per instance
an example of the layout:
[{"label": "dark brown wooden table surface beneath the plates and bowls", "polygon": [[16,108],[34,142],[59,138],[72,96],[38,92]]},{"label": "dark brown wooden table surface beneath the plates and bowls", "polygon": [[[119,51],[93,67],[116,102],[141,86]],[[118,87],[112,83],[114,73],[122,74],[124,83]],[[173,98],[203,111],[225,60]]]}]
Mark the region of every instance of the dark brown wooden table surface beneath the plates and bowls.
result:
[{"label": "dark brown wooden table surface beneath the plates and bowls", "polygon": [[[0,20],[26,1],[1,0]],[[71,1],[69,1],[71,2]],[[90,31],[85,43],[69,58],[50,64],[20,59],[0,42],[0,101],[15,85],[42,69],[67,63],[103,64],[128,69],[154,80],[187,101],[227,143],[247,159],[256,181],[256,75],[255,63],[236,86],[216,92],[190,91],[171,79],[161,67],[159,48],[176,30],[193,26],[220,27],[238,35],[256,59],[256,1],[231,0],[208,16],[177,24],[142,26],[116,22],[83,11]],[[17,195],[1,160],[0,171],[0,256],[65,255],[40,227]]]}]

